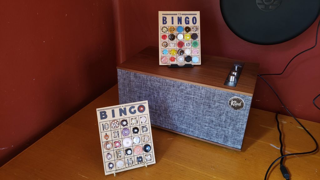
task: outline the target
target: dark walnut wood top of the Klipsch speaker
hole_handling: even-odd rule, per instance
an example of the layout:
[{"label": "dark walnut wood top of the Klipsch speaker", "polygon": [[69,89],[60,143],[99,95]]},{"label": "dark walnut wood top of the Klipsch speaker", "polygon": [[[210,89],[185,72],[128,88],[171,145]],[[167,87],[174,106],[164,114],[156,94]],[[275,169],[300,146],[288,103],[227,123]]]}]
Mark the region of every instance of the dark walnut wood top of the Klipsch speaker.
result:
[{"label": "dark walnut wood top of the Klipsch speaker", "polygon": [[147,47],[124,63],[118,69],[137,72],[197,86],[204,86],[237,94],[252,96],[257,80],[259,64],[245,62],[236,87],[225,86],[225,82],[234,61],[210,55],[201,56],[201,64],[193,68],[168,68],[159,66],[158,47]]}]

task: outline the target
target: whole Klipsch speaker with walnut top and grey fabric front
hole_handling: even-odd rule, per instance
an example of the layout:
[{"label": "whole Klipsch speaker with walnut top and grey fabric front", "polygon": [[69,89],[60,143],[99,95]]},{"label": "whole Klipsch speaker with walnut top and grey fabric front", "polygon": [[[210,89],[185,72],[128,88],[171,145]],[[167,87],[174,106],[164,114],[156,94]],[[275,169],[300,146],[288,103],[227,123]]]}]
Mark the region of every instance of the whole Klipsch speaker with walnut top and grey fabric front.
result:
[{"label": "whole Klipsch speaker with walnut top and grey fabric front", "polygon": [[153,126],[241,150],[258,68],[208,55],[200,66],[169,68],[148,47],[117,67],[119,103],[148,100]]}]

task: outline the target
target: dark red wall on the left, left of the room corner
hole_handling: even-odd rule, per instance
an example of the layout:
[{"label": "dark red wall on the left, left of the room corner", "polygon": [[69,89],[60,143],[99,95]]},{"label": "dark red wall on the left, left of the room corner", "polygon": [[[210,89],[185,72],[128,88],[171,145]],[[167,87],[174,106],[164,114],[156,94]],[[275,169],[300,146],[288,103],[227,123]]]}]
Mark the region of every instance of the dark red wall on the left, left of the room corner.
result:
[{"label": "dark red wall on the left, left of the room corner", "polygon": [[117,83],[115,49],[111,0],[0,2],[0,166]]}]

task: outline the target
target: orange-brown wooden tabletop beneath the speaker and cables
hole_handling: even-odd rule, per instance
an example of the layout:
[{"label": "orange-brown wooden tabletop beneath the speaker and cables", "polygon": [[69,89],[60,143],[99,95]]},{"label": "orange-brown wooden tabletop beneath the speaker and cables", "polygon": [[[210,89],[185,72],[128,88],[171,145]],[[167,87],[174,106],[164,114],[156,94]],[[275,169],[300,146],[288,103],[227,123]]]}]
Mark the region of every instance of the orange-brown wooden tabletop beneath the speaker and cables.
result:
[{"label": "orange-brown wooden tabletop beneath the speaker and cables", "polygon": [[[275,114],[251,109],[242,151],[152,128],[156,164],[104,175],[96,108],[118,104],[114,86],[0,168],[0,179],[263,179],[280,156]],[[294,119],[279,116],[285,151],[314,149]],[[301,120],[319,142],[320,124]],[[291,180],[320,179],[320,153],[289,157]],[[283,179],[278,163],[269,180]]]}]

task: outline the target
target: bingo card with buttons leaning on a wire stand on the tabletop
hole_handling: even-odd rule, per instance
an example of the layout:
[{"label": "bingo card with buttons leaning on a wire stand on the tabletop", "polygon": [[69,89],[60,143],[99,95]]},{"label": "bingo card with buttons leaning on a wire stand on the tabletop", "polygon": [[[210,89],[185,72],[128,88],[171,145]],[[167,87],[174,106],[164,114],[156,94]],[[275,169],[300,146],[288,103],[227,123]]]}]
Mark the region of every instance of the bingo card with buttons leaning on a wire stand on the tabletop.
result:
[{"label": "bingo card with buttons leaning on a wire stand on the tabletop", "polygon": [[105,175],[156,163],[148,101],[99,108],[97,116]]}]

